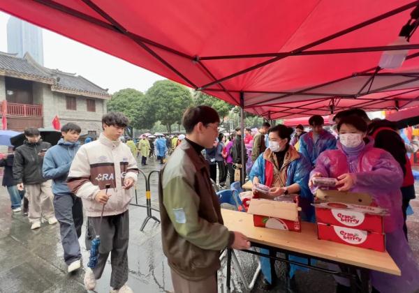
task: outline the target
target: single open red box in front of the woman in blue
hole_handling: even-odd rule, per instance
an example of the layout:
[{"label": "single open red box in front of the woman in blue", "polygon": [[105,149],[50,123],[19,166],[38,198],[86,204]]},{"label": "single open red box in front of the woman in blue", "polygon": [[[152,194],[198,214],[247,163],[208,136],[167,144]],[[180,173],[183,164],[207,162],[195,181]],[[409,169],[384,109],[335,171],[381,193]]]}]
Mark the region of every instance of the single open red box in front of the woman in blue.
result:
[{"label": "single open red box in front of the woman in blue", "polygon": [[301,232],[300,210],[298,196],[288,195],[281,201],[253,198],[247,212],[253,214],[256,227]]}]

